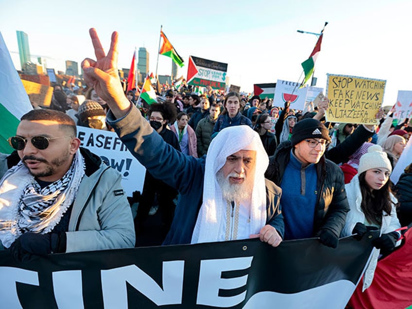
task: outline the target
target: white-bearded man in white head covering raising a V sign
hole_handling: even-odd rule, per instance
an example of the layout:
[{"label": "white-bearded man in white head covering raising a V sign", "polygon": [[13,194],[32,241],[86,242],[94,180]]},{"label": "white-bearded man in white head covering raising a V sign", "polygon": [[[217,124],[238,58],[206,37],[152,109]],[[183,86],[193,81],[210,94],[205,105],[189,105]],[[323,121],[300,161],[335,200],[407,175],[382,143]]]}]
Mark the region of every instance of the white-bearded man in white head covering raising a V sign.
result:
[{"label": "white-bearded man in white head covering raising a V sign", "polygon": [[97,61],[85,59],[82,67],[87,84],[110,106],[109,123],[155,178],[180,192],[164,244],[260,237],[279,245],[280,190],[264,178],[269,160],[257,133],[247,126],[223,130],[210,144],[206,159],[177,152],[125,99],[117,72],[118,34],[113,33],[107,56],[95,29],[90,36]]}]

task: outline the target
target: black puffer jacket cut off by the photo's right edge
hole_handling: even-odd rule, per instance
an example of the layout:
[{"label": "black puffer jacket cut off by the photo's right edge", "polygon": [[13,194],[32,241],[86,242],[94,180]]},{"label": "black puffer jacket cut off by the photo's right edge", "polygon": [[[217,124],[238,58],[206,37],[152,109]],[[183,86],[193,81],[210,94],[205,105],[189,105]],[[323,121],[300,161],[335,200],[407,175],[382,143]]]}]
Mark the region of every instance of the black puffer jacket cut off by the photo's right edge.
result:
[{"label": "black puffer jacket cut off by the photo's right edge", "polygon": [[399,202],[397,215],[402,226],[412,223],[412,164],[399,177],[395,186],[396,197]]}]

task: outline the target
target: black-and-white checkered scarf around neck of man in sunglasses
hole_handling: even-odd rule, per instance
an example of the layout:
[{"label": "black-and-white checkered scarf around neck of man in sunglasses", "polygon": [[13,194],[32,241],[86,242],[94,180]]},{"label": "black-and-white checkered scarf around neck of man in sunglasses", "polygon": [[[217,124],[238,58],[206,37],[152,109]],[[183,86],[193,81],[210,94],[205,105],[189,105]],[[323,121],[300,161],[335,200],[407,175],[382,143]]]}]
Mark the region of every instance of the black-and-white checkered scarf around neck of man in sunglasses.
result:
[{"label": "black-and-white checkered scarf around neck of man in sunglasses", "polygon": [[73,204],[85,163],[78,150],[66,174],[41,189],[23,162],[0,182],[0,240],[8,248],[24,232],[47,234]]}]

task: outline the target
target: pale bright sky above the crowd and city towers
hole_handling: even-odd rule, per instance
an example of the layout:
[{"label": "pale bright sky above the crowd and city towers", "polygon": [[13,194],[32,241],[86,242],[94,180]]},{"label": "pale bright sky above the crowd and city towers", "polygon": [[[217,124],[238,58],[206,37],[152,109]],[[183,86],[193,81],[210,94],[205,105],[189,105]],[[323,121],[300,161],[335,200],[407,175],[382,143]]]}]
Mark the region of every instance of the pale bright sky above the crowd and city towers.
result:
[{"label": "pale bright sky above the crowd and city towers", "polygon": [[[111,33],[119,32],[119,68],[130,68],[135,48],[145,47],[154,72],[162,25],[186,63],[178,76],[186,78],[193,55],[227,63],[230,84],[252,92],[253,84],[301,82],[301,63],[317,36],[297,30],[319,33],[327,21],[316,86],[326,88],[327,73],[386,80],[383,105],[393,105],[398,90],[412,90],[410,0],[85,2],[0,0],[0,32],[16,69],[17,30],[28,34],[32,57],[65,71],[65,60],[80,67],[84,58],[95,58],[88,34],[94,27],[106,51]],[[159,75],[171,74],[171,61],[159,56]]]}]

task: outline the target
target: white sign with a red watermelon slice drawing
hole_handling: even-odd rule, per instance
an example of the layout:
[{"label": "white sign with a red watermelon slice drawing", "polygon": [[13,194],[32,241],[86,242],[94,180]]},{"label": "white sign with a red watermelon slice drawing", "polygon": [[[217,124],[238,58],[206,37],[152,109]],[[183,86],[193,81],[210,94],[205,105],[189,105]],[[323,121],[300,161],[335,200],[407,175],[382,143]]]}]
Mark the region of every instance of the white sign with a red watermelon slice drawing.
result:
[{"label": "white sign with a red watermelon slice drawing", "polygon": [[277,80],[275,88],[274,106],[283,106],[286,101],[291,102],[292,109],[303,110],[306,104],[308,87],[299,88],[299,83]]}]

